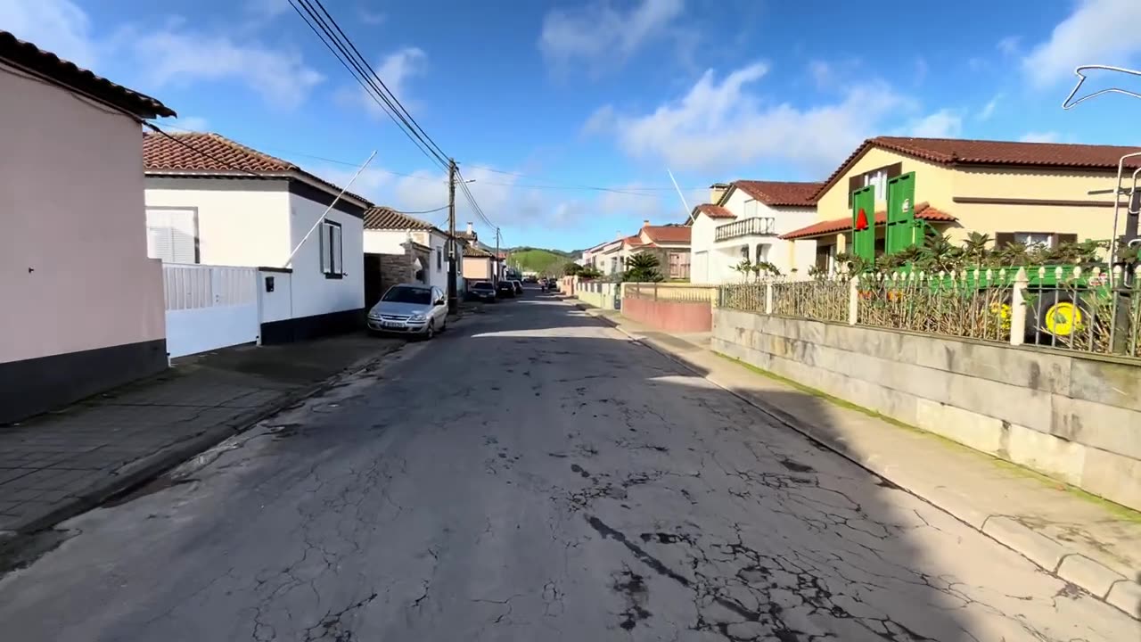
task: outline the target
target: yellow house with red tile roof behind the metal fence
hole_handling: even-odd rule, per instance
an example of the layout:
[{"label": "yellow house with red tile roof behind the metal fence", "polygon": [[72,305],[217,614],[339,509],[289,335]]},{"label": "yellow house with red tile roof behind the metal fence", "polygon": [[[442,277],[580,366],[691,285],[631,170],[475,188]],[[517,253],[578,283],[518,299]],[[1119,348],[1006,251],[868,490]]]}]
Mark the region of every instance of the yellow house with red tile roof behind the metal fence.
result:
[{"label": "yellow house with red tile roof behind the metal fence", "polygon": [[[1112,145],[869,138],[817,192],[817,223],[780,238],[815,240],[816,265],[831,266],[831,257],[851,242],[851,193],[874,185],[876,249],[882,251],[888,179],[914,171],[915,217],[953,242],[971,232],[988,234],[998,244],[1108,240],[1115,234],[1114,195],[1090,192],[1115,187],[1120,158],[1138,151]],[[1141,159],[1128,160],[1127,174],[1141,167]],[[1117,234],[1125,230],[1124,215],[1122,207]],[[791,243],[793,256],[796,246]]]}]

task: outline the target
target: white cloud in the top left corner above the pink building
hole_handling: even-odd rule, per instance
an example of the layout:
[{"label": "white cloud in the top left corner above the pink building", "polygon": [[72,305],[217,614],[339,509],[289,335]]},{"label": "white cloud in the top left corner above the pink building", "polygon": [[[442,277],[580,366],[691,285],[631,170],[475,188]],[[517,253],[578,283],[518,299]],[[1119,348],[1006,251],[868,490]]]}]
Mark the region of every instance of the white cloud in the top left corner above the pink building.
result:
[{"label": "white cloud in the top left corner above the pink building", "polygon": [[68,0],[5,0],[0,2],[0,25],[81,67],[91,69],[99,58],[91,21]]}]

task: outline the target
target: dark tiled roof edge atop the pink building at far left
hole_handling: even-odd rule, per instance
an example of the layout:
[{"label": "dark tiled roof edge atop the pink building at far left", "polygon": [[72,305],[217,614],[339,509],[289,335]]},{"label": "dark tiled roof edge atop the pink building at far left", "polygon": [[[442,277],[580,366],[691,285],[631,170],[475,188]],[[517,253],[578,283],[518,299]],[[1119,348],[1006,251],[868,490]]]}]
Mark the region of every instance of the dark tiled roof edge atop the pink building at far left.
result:
[{"label": "dark tiled roof edge atop the pink building at far left", "polygon": [[95,75],[75,63],[64,61],[50,51],[44,51],[31,42],[24,42],[7,31],[0,31],[0,61],[26,69],[74,89],[114,105],[138,118],[173,117],[173,110],[157,99],[128,89],[121,85]]}]

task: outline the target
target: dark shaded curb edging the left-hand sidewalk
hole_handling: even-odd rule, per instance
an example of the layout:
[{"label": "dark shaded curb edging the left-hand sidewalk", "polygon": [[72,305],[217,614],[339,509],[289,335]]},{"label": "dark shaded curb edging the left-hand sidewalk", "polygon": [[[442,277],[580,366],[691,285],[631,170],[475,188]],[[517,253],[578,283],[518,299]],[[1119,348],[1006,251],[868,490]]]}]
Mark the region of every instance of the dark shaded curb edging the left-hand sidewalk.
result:
[{"label": "dark shaded curb edging the left-hand sidewalk", "polygon": [[252,428],[262,419],[267,419],[281,412],[283,409],[293,406],[294,403],[330,390],[346,376],[354,375],[372,367],[386,356],[399,351],[402,347],[403,345],[395,345],[391,346],[390,350],[385,350],[380,354],[364,360],[358,360],[321,382],[288,392],[272,403],[252,409],[227,424],[207,428],[197,435],[176,442],[163,448],[162,450],[159,450],[157,452],[153,452],[123,465],[119,468],[114,476],[107,480],[105,484],[96,485],[82,497],[75,497],[73,501],[68,501],[63,506],[57,506],[50,511],[46,511],[16,527],[15,530],[6,531],[11,535],[0,538],[0,555],[9,552],[11,548],[18,547],[23,538],[38,531],[51,528],[59,522],[74,517],[81,513],[97,508],[108,499],[149,482],[163,472],[177,466],[194,455],[222,442],[227,438]]}]

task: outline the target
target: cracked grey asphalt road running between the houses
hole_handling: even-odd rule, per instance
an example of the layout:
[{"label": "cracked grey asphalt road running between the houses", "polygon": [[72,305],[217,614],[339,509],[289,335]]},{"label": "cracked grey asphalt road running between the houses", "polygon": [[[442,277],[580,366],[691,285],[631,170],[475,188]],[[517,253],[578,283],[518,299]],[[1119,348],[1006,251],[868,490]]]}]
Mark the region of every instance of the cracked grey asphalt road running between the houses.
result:
[{"label": "cracked grey asphalt road running between the houses", "polygon": [[173,481],[72,520],[0,580],[0,637],[1141,640],[1136,620],[534,292]]}]

